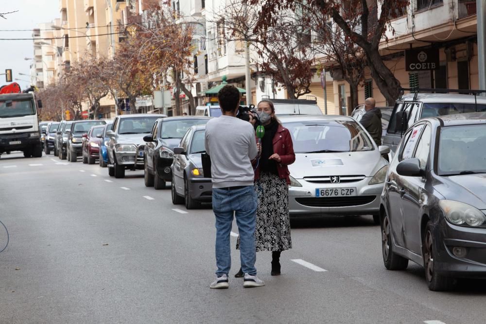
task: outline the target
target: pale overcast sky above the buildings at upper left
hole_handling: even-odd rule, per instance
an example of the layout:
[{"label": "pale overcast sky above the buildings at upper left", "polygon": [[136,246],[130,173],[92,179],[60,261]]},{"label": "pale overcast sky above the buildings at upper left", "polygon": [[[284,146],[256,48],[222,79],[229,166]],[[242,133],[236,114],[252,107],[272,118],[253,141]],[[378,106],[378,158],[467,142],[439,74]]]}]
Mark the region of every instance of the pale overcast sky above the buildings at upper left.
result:
[{"label": "pale overcast sky above the buildings at upper left", "polygon": [[[18,10],[16,13],[6,15],[7,19],[0,18],[0,30],[28,29],[25,32],[3,32],[0,38],[32,38],[32,29],[38,23],[51,22],[60,17],[59,0],[0,0],[0,13]],[[22,90],[30,86],[30,77],[18,73],[30,74],[31,61],[24,57],[34,57],[32,40],[0,40],[0,73],[11,68],[13,78],[24,79],[16,81]],[[5,76],[0,75],[0,86],[5,84]]]}]

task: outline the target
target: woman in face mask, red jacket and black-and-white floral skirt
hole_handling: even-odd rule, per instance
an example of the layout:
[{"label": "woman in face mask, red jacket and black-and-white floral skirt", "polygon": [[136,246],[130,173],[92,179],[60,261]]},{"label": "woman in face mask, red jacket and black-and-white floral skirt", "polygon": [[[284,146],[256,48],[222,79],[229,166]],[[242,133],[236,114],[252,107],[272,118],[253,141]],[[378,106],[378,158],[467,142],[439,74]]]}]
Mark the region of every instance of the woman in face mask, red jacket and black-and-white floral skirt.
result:
[{"label": "woman in face mask, red jacket and black-and-white floral skirt", "polygon": [[[289,169],[295,153],[292,137],[275,117],[269,100],[258,103],[260,121],[265,128],[260,157],[254,162],[255,189],[258,195],[255,245],[257,252],[272,251],[272,275],[280,274],[280,253],[292,248],[289,218]],[[239,249],[240,238],[236,248]],[[243,272],[235,275],[242,277]]]}]

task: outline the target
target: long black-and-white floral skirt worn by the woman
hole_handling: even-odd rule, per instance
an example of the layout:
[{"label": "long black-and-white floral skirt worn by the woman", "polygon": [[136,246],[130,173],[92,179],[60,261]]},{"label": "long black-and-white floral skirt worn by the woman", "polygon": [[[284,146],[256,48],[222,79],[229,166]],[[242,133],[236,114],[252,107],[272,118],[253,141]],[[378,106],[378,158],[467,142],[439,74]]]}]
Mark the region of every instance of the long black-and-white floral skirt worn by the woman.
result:
[{"label": "long black-and-white floral skirt worn by the woman", "polygon": [[[255,246],[258,251],[283,251],[292,248],[289,218],[289,187],[285,179],[260,173],[255,182],[258,196]],[[236,242],[240,248],[240,237]]]}]

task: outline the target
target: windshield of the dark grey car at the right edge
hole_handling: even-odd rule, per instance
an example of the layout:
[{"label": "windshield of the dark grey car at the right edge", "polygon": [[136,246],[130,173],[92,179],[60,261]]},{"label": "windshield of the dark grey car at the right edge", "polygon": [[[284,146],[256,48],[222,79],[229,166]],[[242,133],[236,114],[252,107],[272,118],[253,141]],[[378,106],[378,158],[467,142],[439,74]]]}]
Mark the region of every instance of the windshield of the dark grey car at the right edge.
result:
[{"label": "windshield of the dark grey car at the right edge", "polygon": [[486,173],[486,125],[443,127],[440,131],[437,173]]}]

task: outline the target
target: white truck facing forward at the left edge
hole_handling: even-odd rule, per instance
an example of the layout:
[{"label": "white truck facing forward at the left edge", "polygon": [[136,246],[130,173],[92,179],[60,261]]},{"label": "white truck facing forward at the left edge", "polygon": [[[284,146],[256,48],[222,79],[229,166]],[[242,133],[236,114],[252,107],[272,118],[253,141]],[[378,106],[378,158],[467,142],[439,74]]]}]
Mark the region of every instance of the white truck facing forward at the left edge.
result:
[{"label": "white truck facing forward at the left edge", "polygon": [[0,94],[0,154],[22,151],[25,157],[41,157],[37,108],[33,93]]}]

